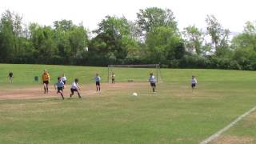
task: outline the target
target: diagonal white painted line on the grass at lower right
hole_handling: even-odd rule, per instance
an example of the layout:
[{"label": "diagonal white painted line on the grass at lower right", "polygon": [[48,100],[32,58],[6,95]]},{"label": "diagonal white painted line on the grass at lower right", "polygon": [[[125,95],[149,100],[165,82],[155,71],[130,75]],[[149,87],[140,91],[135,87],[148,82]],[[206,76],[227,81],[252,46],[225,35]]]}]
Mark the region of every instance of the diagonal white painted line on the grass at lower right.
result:
[{"label": "diagonal white painted line on the grass at lower right", "polygon": [[232,126],[234,126],[237,122],[241,121],[242,118],[246,117],[250,113],[254,112],[256,110],[256,106],[254,106],[252,109],[247,111],[245,114],[242,114],[238,118],[236,118],[233,122],[231,122],[228,126],[224,127],[222,130],[219,130],[217,133],[211,135],[209,138],[206,138],[204,141],[200,142],[200,144],[207,144],[214,139],[218,138],[222,133],[224,133],[226,130],[229,130]]}]

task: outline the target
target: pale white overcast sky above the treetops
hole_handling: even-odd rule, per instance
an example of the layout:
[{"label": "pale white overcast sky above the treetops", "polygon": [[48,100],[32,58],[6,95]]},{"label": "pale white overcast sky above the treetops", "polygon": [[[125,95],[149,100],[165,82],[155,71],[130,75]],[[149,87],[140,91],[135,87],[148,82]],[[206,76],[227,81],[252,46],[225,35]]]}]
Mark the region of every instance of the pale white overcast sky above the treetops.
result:
[{"label": "pale white overcast sky above the treetops", "polygon": [[22,14],[26,23],[47,26],[67,19],[95,30],[106,15],[134,21],[139,9],[156,6],[172,10],[180,30],[190,25],[204,30],[206,15],[214,14],[224,28],[239,33],[247,21],[255,22],[255,4],[255,0],[2,0],[0,13],[11,10]]}]

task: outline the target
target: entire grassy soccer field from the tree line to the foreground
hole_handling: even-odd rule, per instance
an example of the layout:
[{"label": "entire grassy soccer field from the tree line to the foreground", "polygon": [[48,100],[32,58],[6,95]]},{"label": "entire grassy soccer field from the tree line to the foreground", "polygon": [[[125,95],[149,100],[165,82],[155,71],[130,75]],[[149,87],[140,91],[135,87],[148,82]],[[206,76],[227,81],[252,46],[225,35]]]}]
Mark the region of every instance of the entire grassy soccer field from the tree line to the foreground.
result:
[{"label": "entire grassy soccer field from the tree line to the foreground", "polygon": [[[0,143],[198,143],[256,105],[253,71],[162,69],[163,82],[152,94],[146,82],[150,69],[116,69],[114,85],[104,83],[102,67],[0,64],[0,69]],[[40,98],[42,86],[34,76],[44,69],[50,71],[52,93]],[[7,83],[9,70],[13,84]],[[62,73],[69,85],[79,78],[82,99],[68,98],[69,85],[64,101],[54,93]],[[102,77],[101,93],[92,92],[95,73]],[[198,79],[193,93],[191,75]],[[126,82],[130,78],[136,81]],[[41,95],[6,98],[30,88]],[[255,143],[255,119],[256,112],[212,143]]]}]

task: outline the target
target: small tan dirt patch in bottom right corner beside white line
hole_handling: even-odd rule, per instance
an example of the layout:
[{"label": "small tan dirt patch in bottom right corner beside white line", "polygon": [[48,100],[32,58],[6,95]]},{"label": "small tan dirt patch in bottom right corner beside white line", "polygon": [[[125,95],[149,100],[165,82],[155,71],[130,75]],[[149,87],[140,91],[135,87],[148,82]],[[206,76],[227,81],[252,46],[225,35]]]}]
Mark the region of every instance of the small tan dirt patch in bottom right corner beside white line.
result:
[{"label": "small tan dirt patch in bottom right corner beside white line", "polygon": [[237,136],[222,136],[213,142],[214,144],[252,144],[255,143],[254,138],[237,137]]}]

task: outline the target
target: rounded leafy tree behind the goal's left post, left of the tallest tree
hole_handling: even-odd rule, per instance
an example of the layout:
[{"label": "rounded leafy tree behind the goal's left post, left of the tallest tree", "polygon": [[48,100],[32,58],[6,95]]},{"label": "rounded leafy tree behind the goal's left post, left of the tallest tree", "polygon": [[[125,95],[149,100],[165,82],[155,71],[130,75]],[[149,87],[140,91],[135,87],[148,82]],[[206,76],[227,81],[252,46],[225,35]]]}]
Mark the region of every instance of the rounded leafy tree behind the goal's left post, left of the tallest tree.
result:
[{"label": "rounded leafy tree behind the goal's left post, left of the tallest tree", "polygon": [[129,22],[126,18],[106,16],[98,24],[97,34],[92,39],[92,46],[98,53],[107,55],[112,61],[125,59],[128,51],[134,51],[136,42],[133,40]]}]

